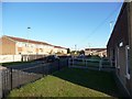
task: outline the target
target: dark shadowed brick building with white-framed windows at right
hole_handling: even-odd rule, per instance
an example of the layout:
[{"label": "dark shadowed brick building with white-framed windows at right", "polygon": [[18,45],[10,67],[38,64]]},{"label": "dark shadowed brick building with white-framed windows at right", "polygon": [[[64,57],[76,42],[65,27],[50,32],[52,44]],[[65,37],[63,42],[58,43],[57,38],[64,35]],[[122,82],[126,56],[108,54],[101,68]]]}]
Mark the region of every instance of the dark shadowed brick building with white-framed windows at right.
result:
[{"label": "dark shadowed brick building with white-framed windows at right", "polygon": [[132,1],[123,3],[107,50],[117,78],[132,97]]}]

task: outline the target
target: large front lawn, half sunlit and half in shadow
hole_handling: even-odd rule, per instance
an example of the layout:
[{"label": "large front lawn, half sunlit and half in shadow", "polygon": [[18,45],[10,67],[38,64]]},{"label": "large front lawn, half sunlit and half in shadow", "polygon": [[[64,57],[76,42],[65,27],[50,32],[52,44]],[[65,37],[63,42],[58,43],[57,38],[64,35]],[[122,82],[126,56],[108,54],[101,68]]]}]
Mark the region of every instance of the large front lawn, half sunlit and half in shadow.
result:
[{"label": "large front lawn, half sunlit and half in shadow", "polygon": [[111,73],[65,68],[20,89],[8,97],[117,97]]}]

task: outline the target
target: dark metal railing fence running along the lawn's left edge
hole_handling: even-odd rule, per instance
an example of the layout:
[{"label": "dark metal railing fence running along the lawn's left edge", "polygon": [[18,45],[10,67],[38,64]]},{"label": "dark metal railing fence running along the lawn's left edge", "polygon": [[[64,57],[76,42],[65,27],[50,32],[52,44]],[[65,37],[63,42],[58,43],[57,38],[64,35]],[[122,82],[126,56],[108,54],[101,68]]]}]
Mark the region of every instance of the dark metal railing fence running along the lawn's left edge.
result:
[{"label": "dark metal railing fence running along the lawn's left edge", "polygon": [[23,69],[7,68],[2,72],[2,96],[4,98],[13,88],[35,81],[66,66],[68,66],[68,61],[59,59],[54,63],[38,64]]}]

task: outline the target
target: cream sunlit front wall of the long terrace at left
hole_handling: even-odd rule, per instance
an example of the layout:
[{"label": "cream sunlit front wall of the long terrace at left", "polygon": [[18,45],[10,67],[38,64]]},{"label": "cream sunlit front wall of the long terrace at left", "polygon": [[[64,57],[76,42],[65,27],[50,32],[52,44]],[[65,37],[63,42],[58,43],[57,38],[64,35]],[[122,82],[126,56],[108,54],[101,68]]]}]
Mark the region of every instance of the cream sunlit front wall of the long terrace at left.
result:
[{"label": "cream sunlit front wall of the long terrace at left", "polygon": [[26,42],[18,42],[16,46],[16,55],[48,55],[53,53],[54,47],[44,44],[33,44]]}]

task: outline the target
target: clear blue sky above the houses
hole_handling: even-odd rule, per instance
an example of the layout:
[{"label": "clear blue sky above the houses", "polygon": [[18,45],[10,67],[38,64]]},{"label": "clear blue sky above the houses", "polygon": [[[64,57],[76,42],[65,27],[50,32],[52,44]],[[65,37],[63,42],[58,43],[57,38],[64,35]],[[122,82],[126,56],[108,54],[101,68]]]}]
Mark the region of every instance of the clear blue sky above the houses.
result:
[{"label": "clear blue sky above the houses", "polygon": [[[106,47],[121,2],[3,2],[6,35],[81,50]],[[31,30],[28,32],[28,26]]]}]

